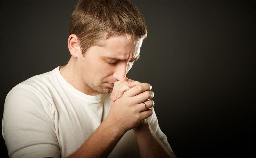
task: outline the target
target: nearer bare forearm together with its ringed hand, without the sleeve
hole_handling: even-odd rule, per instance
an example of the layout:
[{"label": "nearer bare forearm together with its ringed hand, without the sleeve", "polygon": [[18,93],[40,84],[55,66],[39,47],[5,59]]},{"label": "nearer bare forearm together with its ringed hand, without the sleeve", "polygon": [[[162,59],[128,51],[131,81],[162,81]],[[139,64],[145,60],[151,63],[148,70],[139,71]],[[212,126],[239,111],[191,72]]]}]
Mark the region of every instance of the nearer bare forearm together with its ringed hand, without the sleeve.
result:
[{"label": "nearer bare forearm together with its ringed hand, without the sleeve", "polygon": [[[117,83],[114,85],[116,88]],[[115,102],[111,101],[108,117],[91,137],[69,157],[107,157],[128,130],[138,126],[143,119],[152,115],[151,109],[145,111],[144,105],[138,106],[136,102],[136,100],[151,99],[152,95],[141,94],[149,88],[144,86],[131,89],[122,98]]]}]

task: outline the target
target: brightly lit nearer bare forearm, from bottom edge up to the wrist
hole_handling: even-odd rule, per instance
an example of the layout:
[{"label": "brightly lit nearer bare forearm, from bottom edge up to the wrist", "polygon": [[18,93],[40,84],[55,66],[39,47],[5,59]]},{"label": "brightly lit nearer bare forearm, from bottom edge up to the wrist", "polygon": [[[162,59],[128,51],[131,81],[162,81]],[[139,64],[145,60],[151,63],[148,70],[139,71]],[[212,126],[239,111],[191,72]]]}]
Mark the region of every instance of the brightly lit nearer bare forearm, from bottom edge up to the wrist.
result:
[{"label": "brightly lit nearer bare forearm, from bottom edge up to the wrist", "polygon": [[108,157],[124,134],[106,119],[90,138],[69,157]]}]

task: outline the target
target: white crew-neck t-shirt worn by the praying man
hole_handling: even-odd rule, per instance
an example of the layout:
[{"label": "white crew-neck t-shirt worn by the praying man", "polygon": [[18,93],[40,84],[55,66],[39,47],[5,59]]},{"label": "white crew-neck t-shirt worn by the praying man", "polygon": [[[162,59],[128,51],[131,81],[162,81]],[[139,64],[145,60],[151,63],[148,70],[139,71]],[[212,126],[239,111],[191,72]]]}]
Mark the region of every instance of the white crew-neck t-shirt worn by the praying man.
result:
[{"label": "white crew-neck t-shirt worn by the praying man", "polygon": [[[59,67],[19,83],[8,93],[2,135],[10,157],[68,157],[106,119],[110,95],[82,93],[67,82]],[[155,112],[147,120],[172,152]],[[133,130],[124,134],[108,157],[140,157]]]}]

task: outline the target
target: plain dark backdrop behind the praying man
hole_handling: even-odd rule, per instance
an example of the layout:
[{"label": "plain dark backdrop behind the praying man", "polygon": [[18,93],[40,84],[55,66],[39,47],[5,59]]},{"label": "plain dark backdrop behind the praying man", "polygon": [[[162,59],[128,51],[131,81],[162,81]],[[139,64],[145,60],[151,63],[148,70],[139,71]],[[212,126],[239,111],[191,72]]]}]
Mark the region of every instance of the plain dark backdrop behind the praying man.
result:
[{"label": "plain dark backdrop behind the praying man", "polygon": [[[153,86],[174,153],[255,157],[255,1],[132,2],[148,39],[127,76]],[[2,120],[12,87],[68,62],[76,1],[0,3]],[[0,157],[7,156],[1,136]]]}]

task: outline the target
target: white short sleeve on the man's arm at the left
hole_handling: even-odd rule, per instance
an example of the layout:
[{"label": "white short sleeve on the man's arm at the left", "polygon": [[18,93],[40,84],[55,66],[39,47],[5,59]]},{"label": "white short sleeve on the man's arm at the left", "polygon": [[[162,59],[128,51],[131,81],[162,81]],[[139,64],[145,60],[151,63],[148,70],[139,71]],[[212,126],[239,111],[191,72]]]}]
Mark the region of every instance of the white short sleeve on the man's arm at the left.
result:
[{"label": "white short sleeve on the man's arm at the left", "polygon": [[47,101],[31,85],[19,84],[8,93],[2,135],[10,157],[60,157]]}]

